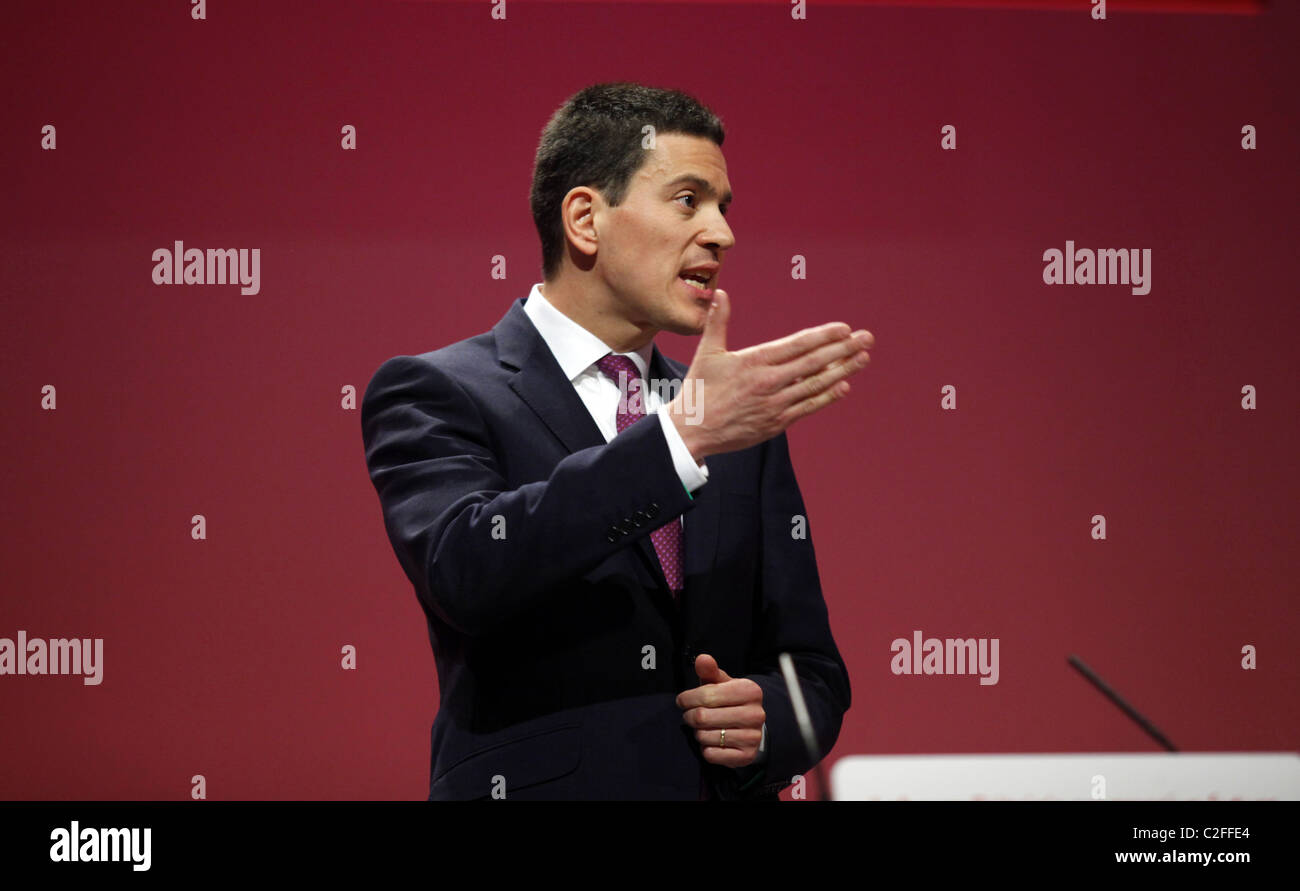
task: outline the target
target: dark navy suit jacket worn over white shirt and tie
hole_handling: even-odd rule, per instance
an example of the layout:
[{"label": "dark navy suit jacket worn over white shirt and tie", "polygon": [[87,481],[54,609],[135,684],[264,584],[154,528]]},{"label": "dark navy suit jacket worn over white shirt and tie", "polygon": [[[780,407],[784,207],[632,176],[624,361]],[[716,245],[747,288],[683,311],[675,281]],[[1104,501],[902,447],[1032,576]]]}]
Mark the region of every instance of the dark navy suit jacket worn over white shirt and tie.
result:
[{"label": "dark navy suit jacket worn over white shirt and tie", "polygon": [[[680,384],[654,349],[649,377]],[[429,799],[775,799],[811,767],[788,650],[823,752],[849,708],[785,434],[707,458],[693,496],[653,414],[606,442],[541,334],[493,330],[376,371],[370,480],[428,618],[441,702]],[[672,598],[650,532],[685,514]],[[767,758],[719,767],[675,700],[708,653],[763,689]]]}]

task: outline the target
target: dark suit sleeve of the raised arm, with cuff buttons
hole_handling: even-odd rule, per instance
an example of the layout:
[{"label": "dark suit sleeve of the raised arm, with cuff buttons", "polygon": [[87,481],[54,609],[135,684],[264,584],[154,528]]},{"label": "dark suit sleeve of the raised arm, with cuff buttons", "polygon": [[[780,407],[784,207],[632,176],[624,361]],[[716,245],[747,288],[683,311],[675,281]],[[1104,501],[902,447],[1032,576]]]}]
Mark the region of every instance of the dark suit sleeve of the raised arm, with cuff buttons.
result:
[{"label": "dark suit sleeve of the raised arm, with cuff buttons", "polygon": [[416,356],[376,371],[361,434],[402,568],[420,602],[465,635],[543,606],[693,506],[654,416],[508,488],[481,407]]}]

